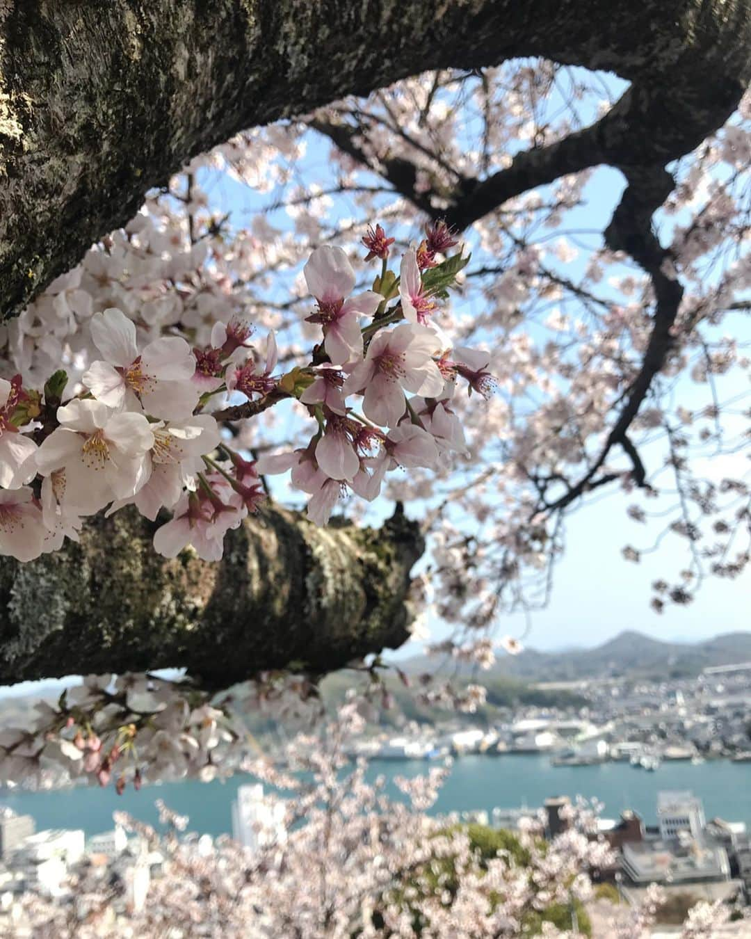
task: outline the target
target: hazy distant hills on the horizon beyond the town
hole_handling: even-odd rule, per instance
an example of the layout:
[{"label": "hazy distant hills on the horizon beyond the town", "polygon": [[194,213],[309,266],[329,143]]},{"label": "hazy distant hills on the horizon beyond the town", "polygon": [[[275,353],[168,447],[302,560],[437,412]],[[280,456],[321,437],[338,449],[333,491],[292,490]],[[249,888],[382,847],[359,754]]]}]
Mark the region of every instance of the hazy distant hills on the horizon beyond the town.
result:
[{"label": "hazy distant hills on the horizon beyond the town", "polygon": [[[662,642],[627,630],[593,649],[545,653],[526,649],[499,657],[487,676],[524,682],[574,681],[620,676],[679,678],[697,675],[713,665],[751,661],[751,632],[728,633],[700,642]],[[408,672],[435,670],[437,660],[420,655],[402,663]],[[467,670],[463,670],[467,674]]]}]

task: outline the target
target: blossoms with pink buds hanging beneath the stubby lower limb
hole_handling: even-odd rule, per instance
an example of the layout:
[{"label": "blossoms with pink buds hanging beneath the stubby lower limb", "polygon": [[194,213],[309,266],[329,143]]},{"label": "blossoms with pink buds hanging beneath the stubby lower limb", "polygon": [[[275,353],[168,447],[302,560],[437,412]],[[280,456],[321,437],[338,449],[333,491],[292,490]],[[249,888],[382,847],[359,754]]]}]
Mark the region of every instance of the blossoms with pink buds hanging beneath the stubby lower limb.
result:
[{"label": "blossoms with pink buds hanging beneath the stubby lower limb", "polygon": [[209,782],[247,757],[249,719],[310,724],[320,713],[310,682],[294,674],[262,673],[219,693],[189,678],[88,675],[0,731],[0,779],[33,789],[85,780],[118,794],[165,777]]}]

